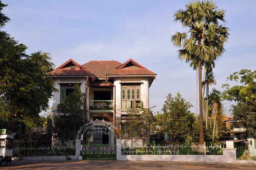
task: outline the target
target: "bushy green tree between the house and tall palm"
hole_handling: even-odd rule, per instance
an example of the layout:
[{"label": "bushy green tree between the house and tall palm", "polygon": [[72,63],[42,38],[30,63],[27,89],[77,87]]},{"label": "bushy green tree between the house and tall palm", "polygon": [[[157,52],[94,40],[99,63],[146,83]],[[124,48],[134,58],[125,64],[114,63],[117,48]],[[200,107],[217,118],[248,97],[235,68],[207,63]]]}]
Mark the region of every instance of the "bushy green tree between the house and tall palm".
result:
[{"label": "bushy green tree between the house and tall palm", "polygon": [[196,122],[194,114],[189,111],[191,107],[192,105],[186,102],[180,93],[177,93],[175,97],[168,94],[162,108],[163,113],[157,115],[161,131],[169,132],[169,136],[178,142],[192,140]]}]

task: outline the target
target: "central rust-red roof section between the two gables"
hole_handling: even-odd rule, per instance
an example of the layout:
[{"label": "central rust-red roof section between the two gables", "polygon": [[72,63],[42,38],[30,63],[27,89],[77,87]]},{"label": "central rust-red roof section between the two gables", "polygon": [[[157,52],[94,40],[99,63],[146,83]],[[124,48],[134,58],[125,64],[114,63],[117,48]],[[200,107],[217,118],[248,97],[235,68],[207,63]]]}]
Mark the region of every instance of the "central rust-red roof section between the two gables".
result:
[{"label": "central rust-red roof section between the two gables", "polygon": [[119,65],[122,65],[122,63],[118,61],[90,61],[82,66],[96,77],[105,78],[106,74],[115,70]]}]

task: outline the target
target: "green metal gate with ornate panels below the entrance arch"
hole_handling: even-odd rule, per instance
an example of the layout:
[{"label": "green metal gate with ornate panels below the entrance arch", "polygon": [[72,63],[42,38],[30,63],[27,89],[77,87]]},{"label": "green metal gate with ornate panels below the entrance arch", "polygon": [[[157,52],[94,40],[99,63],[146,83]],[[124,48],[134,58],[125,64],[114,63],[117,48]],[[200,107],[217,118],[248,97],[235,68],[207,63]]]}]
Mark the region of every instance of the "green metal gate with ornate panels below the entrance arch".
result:
[{"label": "green metal gate with ornate panels below the entrance arch", "polygon": [[116,159],[116,144],[84,144],[82,159]]}]

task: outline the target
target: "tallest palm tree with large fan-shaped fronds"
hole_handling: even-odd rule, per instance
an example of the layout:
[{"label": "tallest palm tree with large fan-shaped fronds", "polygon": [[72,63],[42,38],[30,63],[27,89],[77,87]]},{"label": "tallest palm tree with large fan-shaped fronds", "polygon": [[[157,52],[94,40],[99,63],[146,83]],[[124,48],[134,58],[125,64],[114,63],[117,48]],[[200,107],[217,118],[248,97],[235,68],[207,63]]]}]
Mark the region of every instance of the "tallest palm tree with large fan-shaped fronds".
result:
[{"label": "tallest palm tree with large fan-shaped fronds", "polygon": [[[219,21],[226,22],[226,10],[217,9],[210,0],[191,1],[185,4],[186,9],[175,11],[174,21],[180,22],[187,32],[177,32],[171,37],[173,45],[178,50],[178,58],[191,62],[198,62],[199,85],[199,116],[200,116],[200,143],[204,142],[203,126],[203,97],[202,97],[202,65],[207,61],[215,61],[224,53],[224,44],[229,36],[229,29],[220,25]],[[190,34],[189,36],[187,34]],[[183,43],[182,43],[183,42]],[[182,45],[181,45],[182,43]]]}]

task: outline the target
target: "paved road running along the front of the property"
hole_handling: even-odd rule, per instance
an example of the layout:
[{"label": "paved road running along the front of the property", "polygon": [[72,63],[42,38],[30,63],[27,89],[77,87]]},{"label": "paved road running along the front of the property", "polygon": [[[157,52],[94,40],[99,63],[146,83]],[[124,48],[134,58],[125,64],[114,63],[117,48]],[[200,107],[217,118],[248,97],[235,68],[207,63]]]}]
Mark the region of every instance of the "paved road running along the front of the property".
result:
[{"label": "paved road running along the front of the property", "polygon": [[256,164],[227,164],[172,161],[12,161],[0,170],[256,170]]}]

